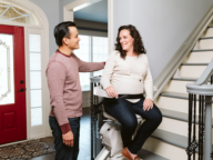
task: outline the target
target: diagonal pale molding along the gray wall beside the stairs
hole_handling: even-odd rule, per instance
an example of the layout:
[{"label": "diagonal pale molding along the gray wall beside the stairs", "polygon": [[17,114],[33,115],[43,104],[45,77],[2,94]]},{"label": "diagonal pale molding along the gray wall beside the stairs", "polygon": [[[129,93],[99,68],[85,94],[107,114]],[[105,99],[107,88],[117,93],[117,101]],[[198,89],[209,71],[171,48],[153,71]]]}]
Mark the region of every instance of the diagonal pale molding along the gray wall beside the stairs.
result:
[{"label": "diagonal pale molding along the gray wall beside the stairs", "polygon": [[170,62],[162,70],[160,76],[154,80],[154,86],[158,88],[158,91],[154,93],[154,100],[159,97],[165,84],[175,74],[180,64],[191,52],[193,47],[196,44],[199,38],[206,30],[207,26],[211,23],[212,20],[213,20],[213,7],[204,16],[201,22],[195,27],[192,33],[186,38],[183,44],[179,48],[176,53],[172,57]]}]

